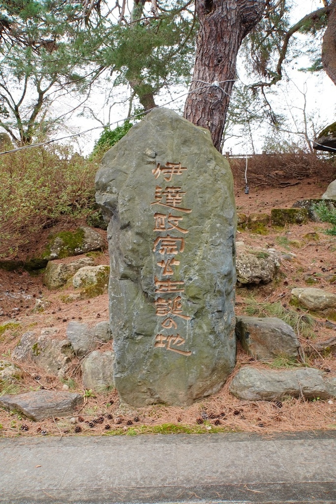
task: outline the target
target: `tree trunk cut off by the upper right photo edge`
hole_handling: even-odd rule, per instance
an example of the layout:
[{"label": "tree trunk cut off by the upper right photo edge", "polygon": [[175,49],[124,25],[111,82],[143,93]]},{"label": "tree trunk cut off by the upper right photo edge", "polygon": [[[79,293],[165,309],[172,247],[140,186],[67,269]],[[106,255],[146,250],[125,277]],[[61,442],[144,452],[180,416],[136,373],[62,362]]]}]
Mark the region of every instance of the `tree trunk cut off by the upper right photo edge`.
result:
[{"label": "tree trunk cut off by the upper right photo edge", "polygon": [[336,0],[328,6],[328,24],[322,42],[322,64],[326,74],[336,85]]}]

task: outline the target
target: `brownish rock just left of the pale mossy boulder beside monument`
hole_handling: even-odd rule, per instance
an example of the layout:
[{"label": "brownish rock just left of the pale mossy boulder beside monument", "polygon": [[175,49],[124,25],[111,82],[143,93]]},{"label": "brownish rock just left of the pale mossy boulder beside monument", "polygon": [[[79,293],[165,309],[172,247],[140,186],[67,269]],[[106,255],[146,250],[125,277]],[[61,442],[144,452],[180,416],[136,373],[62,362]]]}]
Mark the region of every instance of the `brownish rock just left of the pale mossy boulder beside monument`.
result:
[{"label": "brownish rock just left of the pale mossy boulder beside monument", "polygon": [[43,275],[43,283],[50,290],[59,289],[65,285],[69,278],[74,276],[80,268],[93,265],[94,260],[90,257],[81,257],[71,263],[49,261]]}]

